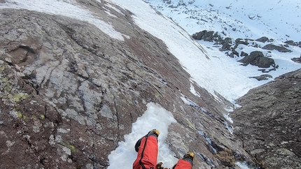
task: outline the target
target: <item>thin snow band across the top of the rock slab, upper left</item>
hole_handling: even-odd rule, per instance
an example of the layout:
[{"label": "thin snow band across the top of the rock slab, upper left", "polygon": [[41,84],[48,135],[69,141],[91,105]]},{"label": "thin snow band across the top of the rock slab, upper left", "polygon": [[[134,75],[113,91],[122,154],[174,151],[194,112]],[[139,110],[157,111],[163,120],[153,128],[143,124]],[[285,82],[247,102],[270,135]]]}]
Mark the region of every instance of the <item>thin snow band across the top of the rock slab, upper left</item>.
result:
[{"label": "thin snow band across the top of the rock slab, upper left", "polygon": [[78,7],[74,0],[7,0],[6,3],[0,3],[0,8],[22,8],[50,15],[71,17],[76,20],[94,24],[98,29],[109,35],[111,38],[124,41],[123,34],[116,31],[111,24],[93,17],[92,13],[90,13],[88,9]]}]

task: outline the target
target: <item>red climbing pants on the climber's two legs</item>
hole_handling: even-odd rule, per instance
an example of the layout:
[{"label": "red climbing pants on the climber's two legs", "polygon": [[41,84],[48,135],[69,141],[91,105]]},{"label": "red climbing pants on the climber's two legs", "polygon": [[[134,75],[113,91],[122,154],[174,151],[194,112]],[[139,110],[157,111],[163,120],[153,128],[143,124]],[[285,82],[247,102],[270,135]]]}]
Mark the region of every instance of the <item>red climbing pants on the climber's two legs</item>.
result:
[{"label": "red climbing pants on the climber's two legs", "polygon": [[[133,169],[155,169],[158,157],[158,140],[154,135],[146,135],[141,140],[137,159],[133,163]],[[192,169],[189,161],[180,159],[174,169]]]}]

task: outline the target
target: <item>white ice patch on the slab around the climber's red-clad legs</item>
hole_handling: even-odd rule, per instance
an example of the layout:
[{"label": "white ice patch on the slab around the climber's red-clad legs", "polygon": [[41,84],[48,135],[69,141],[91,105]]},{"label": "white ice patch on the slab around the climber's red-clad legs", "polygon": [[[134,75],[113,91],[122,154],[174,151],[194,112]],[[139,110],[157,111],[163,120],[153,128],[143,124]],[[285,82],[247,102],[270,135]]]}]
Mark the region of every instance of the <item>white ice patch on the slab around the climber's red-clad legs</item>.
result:
[{"label": "white ice patch on the slab around the climber's red-clad legs", "polygon": [[173,152],[165,143],[168,134],[168,126],[176,122],[171,112],[165,110],[160,105],[148,103],[148,109],[144,115],[137,119],[137,122],[132,124],[132,133],[125,135],[124,142],[118,142],[118,147],[108,156],[110,166],[108,169],[125,168],[132,169],[132,164],[137,158],[137,152],[134,150],[134,145],[148,131],[156,128],[160,131],[158,137],[159,154],[158,162],[162,161],[164,166],[173,166],[177,159],[174,158]]}]

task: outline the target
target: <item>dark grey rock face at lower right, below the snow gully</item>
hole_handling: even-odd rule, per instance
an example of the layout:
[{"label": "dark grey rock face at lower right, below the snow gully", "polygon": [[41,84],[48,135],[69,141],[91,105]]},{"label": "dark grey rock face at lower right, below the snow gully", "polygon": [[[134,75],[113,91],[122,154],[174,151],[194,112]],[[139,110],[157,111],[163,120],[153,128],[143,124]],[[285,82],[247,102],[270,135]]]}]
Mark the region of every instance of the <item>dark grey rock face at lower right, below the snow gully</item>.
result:
[{"label": "dark grey rock face at lower right, below the snow gully", "polygon": [[301,168],[301,70],[251,89],[231,113],[234,133],[264,168]]}]

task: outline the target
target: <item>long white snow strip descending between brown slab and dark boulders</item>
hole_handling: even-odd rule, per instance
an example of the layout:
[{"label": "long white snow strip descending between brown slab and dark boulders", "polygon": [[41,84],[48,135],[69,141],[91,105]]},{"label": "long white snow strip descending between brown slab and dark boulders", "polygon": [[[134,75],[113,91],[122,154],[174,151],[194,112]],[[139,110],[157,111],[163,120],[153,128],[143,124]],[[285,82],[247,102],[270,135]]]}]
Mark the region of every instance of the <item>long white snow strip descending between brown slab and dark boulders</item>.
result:
[{"label": "long white snow strip descending between brown slab and dark boulders", "polygon": [[[190,73],[192,80],[194,80],[197,85],[200,85],[200,87],[207,89],[207,91],[214,96],[215,91],[217,91],[234,103],[235,99],[246,94],[249,89],[258,87],[259,85],[272,80],[258,82],[258,80],[249,78],[262,75],[260,71],[257,71],[258,67],[239,66],[239,62],[226,57],[224,53],[219,52],[213,47],[204,51],[202,45],[193,41],[186,31],[180,27],[176,27],[169,18],[155,13],[155,10],[151,9],[142,1],[112,0],[111,2],[130,10],[134,13],[134,20],[141,29],[148,31],[153,34],[153,36],[165,41],[170,52],[179,59],[183,68]],[[150,2],[151,4],[162,3],[162,1],[159,0]],[[177,1],[172,2],[176,3]],[[200,1],[197,2],[201,3]],[[195,3],[197,2],[195,1]],[[169,8],[161,8],[162,11],[168,9]],[[178,15],[174,15],[173,18],[181,18],[183,15],[186,15],[186,11],[183,12],[181,6],[180,9],[172,9],[176,10],[178,13]],[[190,24],[190,20],[183,20],[182,22],[184,24],[181,24],[180,26],[184,29],[189,29],[189,27],[184,27],[183,25]],[[229,20],[225,20],[224,22],[229,22]],[[158,29],[158,27],[160,29]],[[301,50],[297,50],[299,49],[294,50],[295,52],[290,53],[289,55],[283,54],[285,55],[283,58],[282,56],[279,57],[278,54],[274,54],[276,64],[279,64],[280,66],[280,71],[271,73],[274,78],[283,73],[301,68],[300,64],[296,64],[290,60],[293,56],[300,56]]]}]

